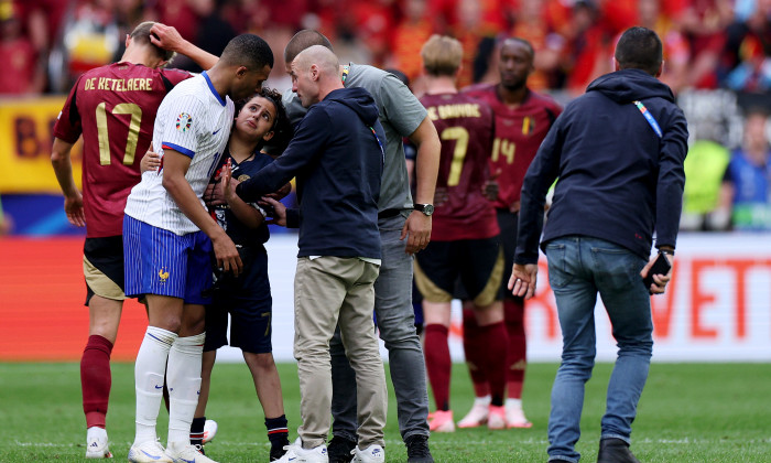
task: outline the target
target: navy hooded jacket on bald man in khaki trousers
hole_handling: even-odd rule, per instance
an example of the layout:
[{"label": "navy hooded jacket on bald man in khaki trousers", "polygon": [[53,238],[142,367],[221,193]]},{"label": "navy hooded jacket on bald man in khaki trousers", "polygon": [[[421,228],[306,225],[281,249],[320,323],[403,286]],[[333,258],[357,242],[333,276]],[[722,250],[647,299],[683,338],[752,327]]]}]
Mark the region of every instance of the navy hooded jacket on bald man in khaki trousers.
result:
[{"label": "navy hooded jacket on bald man in khaki trousers", "polygon": [[297,257],[379,259],[381,142],[386,134],[372,96],[363,88],[333,90],[311,106],[284,153],[236,193],[253,203],[296,176]]}]

